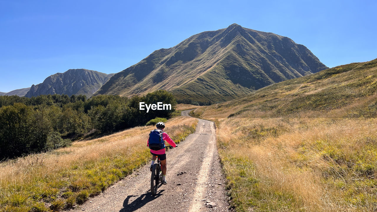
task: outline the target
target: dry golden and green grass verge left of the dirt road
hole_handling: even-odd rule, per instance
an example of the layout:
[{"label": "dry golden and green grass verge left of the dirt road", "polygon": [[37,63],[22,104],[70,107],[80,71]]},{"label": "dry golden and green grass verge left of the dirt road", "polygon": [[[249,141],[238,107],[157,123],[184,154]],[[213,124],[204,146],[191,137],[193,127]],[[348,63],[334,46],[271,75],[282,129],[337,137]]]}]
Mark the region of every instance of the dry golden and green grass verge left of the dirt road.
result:
[{"label": "dry golden and green grass verge left of the dirt road", "polygon": [[[175,117],[166,132],[182,141],[197,120]],[[149,160],[153,127],[137,127],[56,151],[0,163],[0,211],[59,211],[82,204]]]}]

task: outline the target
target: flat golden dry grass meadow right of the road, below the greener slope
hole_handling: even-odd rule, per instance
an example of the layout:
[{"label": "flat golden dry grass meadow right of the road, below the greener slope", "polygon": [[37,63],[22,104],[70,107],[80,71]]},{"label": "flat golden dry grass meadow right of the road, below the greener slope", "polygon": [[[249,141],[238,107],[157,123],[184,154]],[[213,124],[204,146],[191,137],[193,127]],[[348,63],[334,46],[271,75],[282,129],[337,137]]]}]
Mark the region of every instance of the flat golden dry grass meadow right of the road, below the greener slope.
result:
[{"label": "flat golden dry grass meadow right of the road, below the greener slope", "polygon": [[239,210],[375,210],[375,129],[375,119],[326,124],[237,117],[221,123],[220,154]]}]

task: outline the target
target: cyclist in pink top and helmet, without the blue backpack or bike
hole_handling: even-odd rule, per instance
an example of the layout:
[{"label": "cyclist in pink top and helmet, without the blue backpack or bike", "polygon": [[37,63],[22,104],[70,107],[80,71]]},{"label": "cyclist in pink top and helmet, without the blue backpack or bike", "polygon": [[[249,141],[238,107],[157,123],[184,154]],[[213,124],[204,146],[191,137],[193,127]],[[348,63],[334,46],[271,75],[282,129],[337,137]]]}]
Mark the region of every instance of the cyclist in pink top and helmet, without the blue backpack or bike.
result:
[{"label": "cyclist in pink top and helmet, without the blue backpack or bike", "polygon": [[[159,122],[156,124],[156,128],[164,131],[165,124],[164,122]],[[166,132],[162,132],[162,139],[164,141],[167,141],[172,147],[176,147],[177,145],[174,143],[174,141],[169,137],[169,135]],[[149,138],[147,142],[147,146],[149,144]],[[160,158],[161,161],[161,168],[162,168],[162,184],[166,185],[166,153],[165,148],[160,150],[150,150],[150,154],[152,154],[152,164],[150,165],[150,171],[152,172],[153,164],[155,164],[155,160],[157,159],[157,156]]]}]

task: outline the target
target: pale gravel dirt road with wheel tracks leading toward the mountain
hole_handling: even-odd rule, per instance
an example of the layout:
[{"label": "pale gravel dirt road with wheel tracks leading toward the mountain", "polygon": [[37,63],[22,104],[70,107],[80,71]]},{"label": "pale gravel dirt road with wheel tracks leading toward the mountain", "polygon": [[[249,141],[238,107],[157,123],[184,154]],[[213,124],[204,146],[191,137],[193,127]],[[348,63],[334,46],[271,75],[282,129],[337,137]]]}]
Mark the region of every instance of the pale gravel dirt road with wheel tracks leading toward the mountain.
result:
[{"label": "pale gravel dirt road with wheel tracks leading toward the mountain", "polygon": [[[182,115],[188,116],[188,113],[183,111]],[[216,149],[216,130],[211,121],[199,119],[195,133],[166,155],[168,184],[161,185],[156,196],[150,193],[148,163],[74,211],[228,211]]]}]

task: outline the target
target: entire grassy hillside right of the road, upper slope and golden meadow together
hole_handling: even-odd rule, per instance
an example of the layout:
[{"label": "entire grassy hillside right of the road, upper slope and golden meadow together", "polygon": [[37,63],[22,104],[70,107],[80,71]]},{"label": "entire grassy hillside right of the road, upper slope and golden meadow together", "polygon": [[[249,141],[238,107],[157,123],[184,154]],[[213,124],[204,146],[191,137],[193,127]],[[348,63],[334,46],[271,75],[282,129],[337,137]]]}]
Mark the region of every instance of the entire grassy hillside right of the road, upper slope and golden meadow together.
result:
[{"label": "entire grassy hillside right of the road, upper slope and golden meadow together", "polygon": [[195,114],[218,127],[236,211],[377,210],[377,59]]}]

